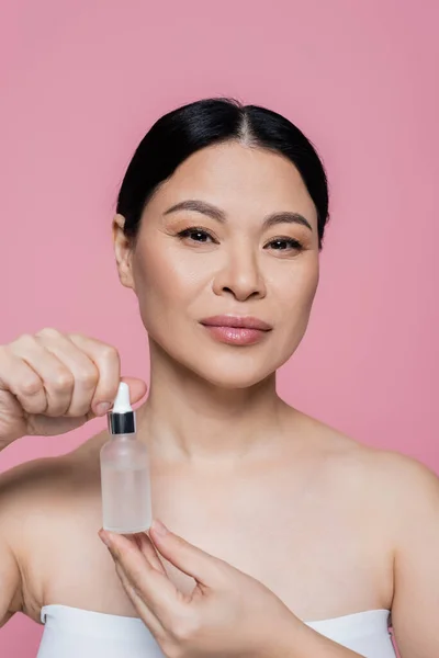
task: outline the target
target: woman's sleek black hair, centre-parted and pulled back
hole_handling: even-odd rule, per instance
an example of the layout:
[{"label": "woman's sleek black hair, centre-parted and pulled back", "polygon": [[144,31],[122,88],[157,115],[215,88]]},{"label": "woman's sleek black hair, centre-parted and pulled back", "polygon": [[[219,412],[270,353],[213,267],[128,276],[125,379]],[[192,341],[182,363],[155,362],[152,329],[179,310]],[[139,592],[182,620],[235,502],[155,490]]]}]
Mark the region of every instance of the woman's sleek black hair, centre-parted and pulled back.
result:
[{"label": "woman's sleek black hair, centre-parted and pulled back", "polygon": [[328,184],[312,143],[288,118],[235,99],[204,99],[161,116],[138,145],[117,197],[125,235],[135,238],[142,213],[160,183],[189,156],[224,141],[243,141],[286,157],[297,169],[317,209],[318,246],[328,222]]}]

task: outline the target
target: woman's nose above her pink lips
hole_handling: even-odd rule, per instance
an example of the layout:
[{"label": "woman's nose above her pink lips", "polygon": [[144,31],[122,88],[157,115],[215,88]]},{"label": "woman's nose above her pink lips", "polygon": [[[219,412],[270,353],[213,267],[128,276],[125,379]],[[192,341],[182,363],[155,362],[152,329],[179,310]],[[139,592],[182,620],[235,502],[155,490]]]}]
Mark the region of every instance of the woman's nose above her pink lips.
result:
[{"label": "woman's nose above her pink lips", "polygon": [[213,292],[218,296],[233,295],[238,302],[263,298],[267,291],[257,254],[244,249],[229,253],[224,268],[214,279]]}]

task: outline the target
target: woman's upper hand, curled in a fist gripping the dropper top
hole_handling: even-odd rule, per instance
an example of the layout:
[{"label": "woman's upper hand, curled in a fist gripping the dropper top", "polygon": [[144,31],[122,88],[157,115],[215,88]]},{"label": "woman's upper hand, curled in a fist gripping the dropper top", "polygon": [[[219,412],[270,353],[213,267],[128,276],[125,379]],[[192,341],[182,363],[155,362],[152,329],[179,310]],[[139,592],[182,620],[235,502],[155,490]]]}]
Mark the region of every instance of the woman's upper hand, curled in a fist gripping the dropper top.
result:
[{"label": "woman's upper hand, curled in a fist gripping the dropper top", "polygon": [[111,408],[121,382],[132,402],[142,379],[121,377],[117,350],[93,338],[43,329],[0,345],[0,450],[25,435],[79,428]]}]

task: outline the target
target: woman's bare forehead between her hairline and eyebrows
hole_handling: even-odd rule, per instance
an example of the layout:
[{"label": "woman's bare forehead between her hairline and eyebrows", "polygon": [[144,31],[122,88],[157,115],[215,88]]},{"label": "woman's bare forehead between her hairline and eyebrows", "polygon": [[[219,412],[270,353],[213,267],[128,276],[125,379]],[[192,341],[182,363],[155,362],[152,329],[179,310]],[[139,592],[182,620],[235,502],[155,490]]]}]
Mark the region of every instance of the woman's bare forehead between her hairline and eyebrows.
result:
[{"label": "woman's bare forehead between her hairline and eyebrows", "polygon": [[187,198],[207,201],[230,215],[293,211],[317,223],[314,203],[294,164],[280,154],[238,143],[210,146],[190,156],[160,186],[151,205],[164,212]]}]

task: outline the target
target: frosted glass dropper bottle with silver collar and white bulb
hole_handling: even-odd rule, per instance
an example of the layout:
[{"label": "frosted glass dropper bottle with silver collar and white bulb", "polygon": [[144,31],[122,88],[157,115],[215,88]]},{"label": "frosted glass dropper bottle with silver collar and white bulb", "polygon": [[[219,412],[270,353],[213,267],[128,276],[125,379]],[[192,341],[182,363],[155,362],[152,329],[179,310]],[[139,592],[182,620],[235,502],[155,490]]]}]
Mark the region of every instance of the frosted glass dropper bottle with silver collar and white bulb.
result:
[{"label": "frosted glass dropper bottle with silver collar and white bulb", "polygon": [[120,534],[143,532],[153,522],[149,460],[136,436],[136,415],[124,382],[108,422],[110,441],[100,452],[103,529]]}]

